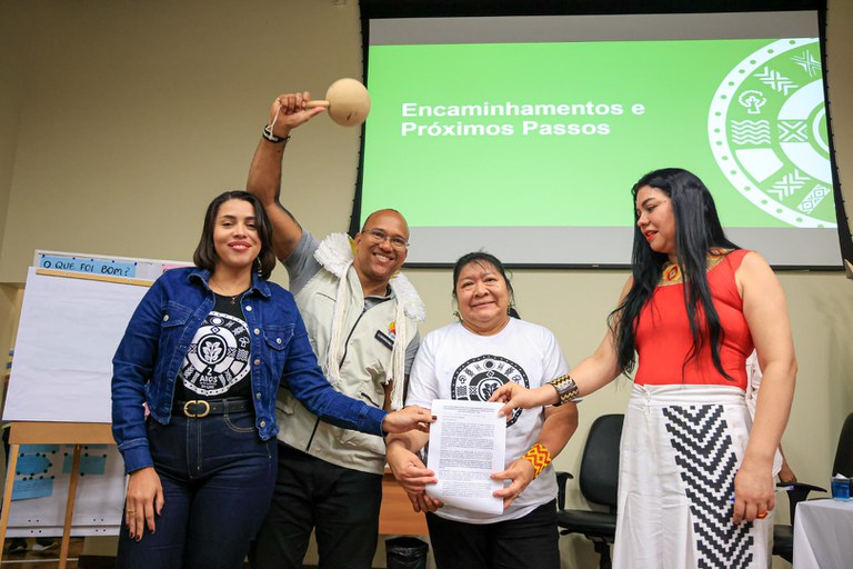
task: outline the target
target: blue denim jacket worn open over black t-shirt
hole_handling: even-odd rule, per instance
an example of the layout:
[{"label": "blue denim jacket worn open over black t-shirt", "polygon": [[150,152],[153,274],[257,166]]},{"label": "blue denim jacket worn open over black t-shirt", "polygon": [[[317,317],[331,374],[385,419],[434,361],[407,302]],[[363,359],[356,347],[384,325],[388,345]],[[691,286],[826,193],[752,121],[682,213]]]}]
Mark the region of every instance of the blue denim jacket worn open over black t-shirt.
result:
[{"label": "blue denim jacket worn open over black t-shirt", "polygon": [[[127,472],[153,466],[143,403],[150,419],[169,423],[178,370],[215,301],[209,279],[210,272],[198,268],[163,273],[133,312],[112,359],[112,433]],[[324,421],[382,435],[385,411],[339,393],[323,377],[290,292],[253,273],[241,306],[252,338],[252,399],[261,439],[278,433],[280,382]]]}]

